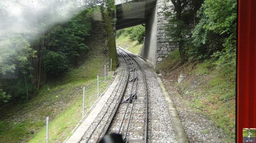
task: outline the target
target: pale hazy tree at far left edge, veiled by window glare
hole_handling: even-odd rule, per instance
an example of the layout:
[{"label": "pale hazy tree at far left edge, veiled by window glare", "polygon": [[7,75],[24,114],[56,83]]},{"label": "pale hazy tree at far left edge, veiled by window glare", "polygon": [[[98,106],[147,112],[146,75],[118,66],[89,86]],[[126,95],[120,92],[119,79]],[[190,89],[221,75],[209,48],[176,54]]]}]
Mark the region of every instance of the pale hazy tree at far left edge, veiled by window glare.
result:
[{"label": "pale hazy tree at far left edge, veiled by window glare", "polygon": [[[25,69],[27,68],[29,69],[29,66],[26,67],[25,65],[27,65],[29,57],[32,57],[36,53],[36,51],[30,48],[29,42],[20,35],[17,35],[17,36],[10,35],[8,38],[2,41],[0,50],[1,50],[0,74],[5,75],[8,72],[14,72],[14,70],[17,73],[18,71],[20,71],[24,74],[25,81],[26,81],[27,72],[25,71]],[[25,88],[27,89],[27,97],[28,97],[27,81],[26,81]],[[2,91],[2,89],[1,89],[1,96],[4,99],[3,100],[4,102],[7,102],[7,100],[9,100],[11,97],[9,93],[6,95],[6,92]]]}]

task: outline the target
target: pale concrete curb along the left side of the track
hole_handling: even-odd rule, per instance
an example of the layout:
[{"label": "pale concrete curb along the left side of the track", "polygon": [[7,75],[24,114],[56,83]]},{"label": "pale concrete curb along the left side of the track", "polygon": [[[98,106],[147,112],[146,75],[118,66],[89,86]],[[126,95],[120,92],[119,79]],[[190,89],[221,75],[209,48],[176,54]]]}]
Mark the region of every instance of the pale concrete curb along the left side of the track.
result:
[{"label": "pale concrete curb along the left side of the track", "polygon": [[[120,69],[119,71],[123,72],[123,69]],[[118,81],[121,78],[122,72],[118,72],[115,80],[113,83],[109,86],[108,90],[105,92],[105,94],[101,97],[99,102],[97,103],[96,107],[94,108],[91,113],[87,116],[87,118],[84,120],[84,122],[76,129],[74,134],[66,141],[66,143],[79,143],[81,139],[83,138],[84,134],[86,133],[87,129],[90,127],[91,123],[94,121],[94,119],[98,116],[103,106],[106,104],[108,98],[114,91]]]}]

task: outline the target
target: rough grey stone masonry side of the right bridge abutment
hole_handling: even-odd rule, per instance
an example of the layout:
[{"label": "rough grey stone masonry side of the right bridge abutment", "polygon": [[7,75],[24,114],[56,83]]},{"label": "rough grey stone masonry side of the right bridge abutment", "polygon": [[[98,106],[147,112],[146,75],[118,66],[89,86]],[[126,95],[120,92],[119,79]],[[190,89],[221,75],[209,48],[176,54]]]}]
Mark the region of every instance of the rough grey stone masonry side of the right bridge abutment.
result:
[{"label": "rough grey stone masonry side of the right bridge abutment", "polygon": [[[173,5],[171,2],[168,5]],[[164,0],[157,0],[157,63],[174,49],[178,48],[177,44],[169,44],[166,36],[165,26],[169,24],[163,14]]]}]

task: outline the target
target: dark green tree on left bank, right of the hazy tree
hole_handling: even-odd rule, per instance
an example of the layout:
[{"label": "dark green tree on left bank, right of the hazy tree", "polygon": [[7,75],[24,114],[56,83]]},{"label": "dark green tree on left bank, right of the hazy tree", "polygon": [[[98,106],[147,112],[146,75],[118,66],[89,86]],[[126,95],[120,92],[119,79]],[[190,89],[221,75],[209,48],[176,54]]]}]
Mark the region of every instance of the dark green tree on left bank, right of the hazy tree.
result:
[{"label": "dark green tree on left bank, right of the hazy tree", "polygon": [[[88,50],[88,47],[84,44],[85,36],[89,35],[91,29],[86,16],[87,12],[88,10],[84,9],[81,12],[74,13],[69,21],[52,26],[49,31],[43,32],[31,44],[32,48],[38,51],[36,57],[31,59],[33,67],[32,81],[37,91],[41,84],[46,81],[47,75],[50,75],[47,73],[51,69],[50,62],[45,62],[45,60],[49,60],[45,59],[46,57],[51,57],[49,54],[52,56],[58,55],[58,58],[64,59],[64,61],[59,62],[61,65],[57,66],[58,72],[56,73],[60,74],[66,69],[64,67],[76,64],[80,52]],[[50,51],[55,52],[55,54]],[[44,67],[44,65],[47,65],[47,67]]]}]

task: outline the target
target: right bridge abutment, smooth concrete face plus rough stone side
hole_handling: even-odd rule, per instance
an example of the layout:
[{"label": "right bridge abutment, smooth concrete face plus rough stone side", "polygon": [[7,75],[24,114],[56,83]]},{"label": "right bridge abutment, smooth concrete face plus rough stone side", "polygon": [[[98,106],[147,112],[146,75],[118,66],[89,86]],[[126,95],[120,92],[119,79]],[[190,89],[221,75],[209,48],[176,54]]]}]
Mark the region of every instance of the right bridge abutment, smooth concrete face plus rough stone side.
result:
[{"label": "right bridge abutment, smooth concrete face plus rough stone side", "polygon": [[[173,5],[171,2],[169,5]],[[145,26],[145,41],[139,56],[156,67],[168,54],[178,48],[178,44],[169,44],[166,25],[169,20],[163,14],[164,0],[157,0]]]}]

